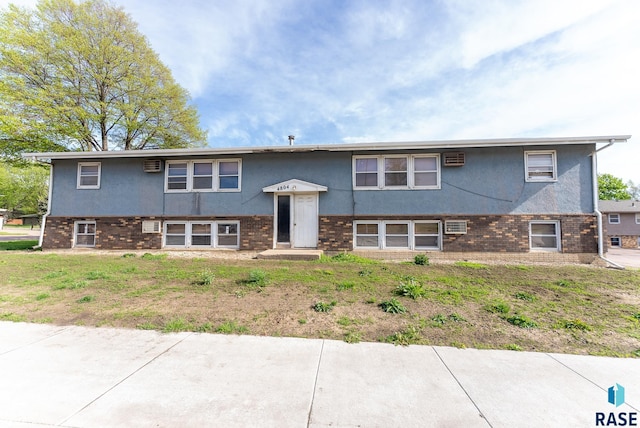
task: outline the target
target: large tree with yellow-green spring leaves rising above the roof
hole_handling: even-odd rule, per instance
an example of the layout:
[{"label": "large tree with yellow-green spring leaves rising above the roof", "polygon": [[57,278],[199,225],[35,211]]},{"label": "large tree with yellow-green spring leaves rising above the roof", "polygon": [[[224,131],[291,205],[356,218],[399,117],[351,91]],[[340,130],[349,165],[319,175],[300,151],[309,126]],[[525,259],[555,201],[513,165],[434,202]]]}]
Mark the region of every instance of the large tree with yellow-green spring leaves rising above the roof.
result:
[{"label": "large tree with yellow-green spring leaves rising above the roof", "polygon": [[107,0],[0,10],[0,154],[201,146],[189,101]]}]

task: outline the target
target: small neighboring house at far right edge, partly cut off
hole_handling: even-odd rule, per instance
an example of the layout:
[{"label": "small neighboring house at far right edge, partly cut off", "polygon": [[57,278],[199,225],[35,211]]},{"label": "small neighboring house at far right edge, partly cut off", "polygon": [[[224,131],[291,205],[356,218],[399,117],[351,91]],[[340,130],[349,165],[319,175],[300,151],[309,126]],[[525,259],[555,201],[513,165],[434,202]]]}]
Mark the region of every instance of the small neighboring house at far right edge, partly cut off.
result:
[{"label": "small neighboring house at far right edge, partly cut off", "polygon": [[640,202],[600,201],[599,210],[604,214],[604,230],[609,247],[640,247]]}]

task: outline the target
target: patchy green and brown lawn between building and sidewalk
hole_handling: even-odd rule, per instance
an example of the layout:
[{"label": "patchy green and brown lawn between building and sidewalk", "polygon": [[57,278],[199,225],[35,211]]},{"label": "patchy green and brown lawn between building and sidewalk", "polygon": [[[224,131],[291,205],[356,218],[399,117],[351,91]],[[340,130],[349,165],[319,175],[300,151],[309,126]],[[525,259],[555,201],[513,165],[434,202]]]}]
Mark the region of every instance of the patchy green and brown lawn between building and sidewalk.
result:
[{"label": "patchy green and brown lawn between building and sidewalk", "polygon": [[640,270],[5,252],[0,320],[640,357]]}]

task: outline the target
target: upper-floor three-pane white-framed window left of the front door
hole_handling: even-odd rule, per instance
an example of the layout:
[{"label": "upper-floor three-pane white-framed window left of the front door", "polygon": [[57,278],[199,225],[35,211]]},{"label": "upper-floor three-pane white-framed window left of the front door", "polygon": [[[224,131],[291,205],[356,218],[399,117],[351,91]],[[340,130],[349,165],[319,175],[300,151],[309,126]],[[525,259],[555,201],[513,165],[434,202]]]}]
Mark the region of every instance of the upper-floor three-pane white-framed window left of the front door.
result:
[{"label": "upper-floor three-pane white-framed window left of the front door", "polygon": [[240,159],[167,161],[165,191],[213,192],[240,190]]}]

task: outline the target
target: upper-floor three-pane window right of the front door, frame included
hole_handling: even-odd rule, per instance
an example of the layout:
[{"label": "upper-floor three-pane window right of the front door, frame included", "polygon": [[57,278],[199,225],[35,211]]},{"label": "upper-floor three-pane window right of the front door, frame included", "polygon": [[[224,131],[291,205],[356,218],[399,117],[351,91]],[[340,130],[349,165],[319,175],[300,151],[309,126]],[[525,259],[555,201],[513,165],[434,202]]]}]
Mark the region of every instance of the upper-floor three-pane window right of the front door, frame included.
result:
[{"label": "upper-floor three-pane window right of the front door, frame included", "polygon": [[354,189],[439,189],[440,155],[354,156]]}]

